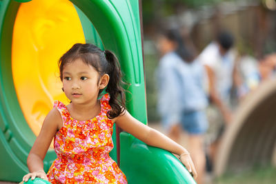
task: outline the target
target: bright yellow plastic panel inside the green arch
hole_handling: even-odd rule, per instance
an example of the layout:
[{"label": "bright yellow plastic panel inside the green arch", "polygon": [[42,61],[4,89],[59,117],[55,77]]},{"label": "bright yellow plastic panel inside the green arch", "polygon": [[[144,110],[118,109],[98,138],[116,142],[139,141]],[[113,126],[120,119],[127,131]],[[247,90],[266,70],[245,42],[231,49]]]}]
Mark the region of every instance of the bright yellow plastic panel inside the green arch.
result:
[{"label": "bright yellow plastic panel inside the green arch", "polygon": [[12,76],[19,104],[35,135],[55,100],[68,104],[57,63],[74,43],[85,43],[85,37],[70,1],[21,3],[12,37]]}]

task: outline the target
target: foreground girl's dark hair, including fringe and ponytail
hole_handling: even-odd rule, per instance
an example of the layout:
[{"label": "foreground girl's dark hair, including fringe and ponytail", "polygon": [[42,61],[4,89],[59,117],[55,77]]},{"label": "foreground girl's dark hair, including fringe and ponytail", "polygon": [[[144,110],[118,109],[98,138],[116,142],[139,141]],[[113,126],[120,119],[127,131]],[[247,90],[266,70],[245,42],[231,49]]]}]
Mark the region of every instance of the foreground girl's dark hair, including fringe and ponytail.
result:
[{"label": "foreground girl's dark hair, including fringe and ponytail", "polygon": [[[59,59],[59,72],[61,81],[64,65],[81,59],[84,63],[92,65],[99,72],[100,77],[103,74],[110,76],[106,92],[110,94],[109,104],[111,110],[108,111],[109,119],[114,119],[126,110],[125,90],[121,87],[122,81],[121,67],[115,54],[110,50],[102,51],[96,45],[90,43],[76,43]],[[103,90],[99,91],[101,94]]]}]

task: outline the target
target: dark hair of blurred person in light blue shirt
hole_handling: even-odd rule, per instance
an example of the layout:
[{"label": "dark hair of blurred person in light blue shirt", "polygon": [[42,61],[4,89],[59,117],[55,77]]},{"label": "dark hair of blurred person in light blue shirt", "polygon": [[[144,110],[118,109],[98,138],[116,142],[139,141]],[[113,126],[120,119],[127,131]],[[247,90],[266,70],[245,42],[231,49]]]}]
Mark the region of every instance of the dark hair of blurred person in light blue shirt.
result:
[{"label": "dark hair of blurred person in light blue shirt", "polygon": [[186,62],[190,63],[195,59],[195,54],[186,48],[184,40],[181,37],[179,30],[168,29],[163,32],[163,35],[170,41],[177,43],[175,52]]}]

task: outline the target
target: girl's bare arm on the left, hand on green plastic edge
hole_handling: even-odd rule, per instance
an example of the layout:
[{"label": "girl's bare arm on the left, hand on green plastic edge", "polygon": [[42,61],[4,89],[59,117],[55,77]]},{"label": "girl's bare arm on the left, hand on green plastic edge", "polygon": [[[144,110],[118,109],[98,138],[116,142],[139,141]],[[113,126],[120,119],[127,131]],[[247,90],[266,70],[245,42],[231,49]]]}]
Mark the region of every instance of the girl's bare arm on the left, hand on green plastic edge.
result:
[{"label": "girl's bare arm on the left, hand on green plastic edge", "polygon": [[47,180],[46,173],[43,170],[43,159],[46,156],[53,136],[55,136],[61,125],[62,119],[59,111],[57,109],[51,110],[46,116],[39,136],[34,141],[34,145],[32,145],[28,155],[27,165],[30,173],[23,177],[23,181],[28,181],[30,177],[34,179],[36,176]]}]

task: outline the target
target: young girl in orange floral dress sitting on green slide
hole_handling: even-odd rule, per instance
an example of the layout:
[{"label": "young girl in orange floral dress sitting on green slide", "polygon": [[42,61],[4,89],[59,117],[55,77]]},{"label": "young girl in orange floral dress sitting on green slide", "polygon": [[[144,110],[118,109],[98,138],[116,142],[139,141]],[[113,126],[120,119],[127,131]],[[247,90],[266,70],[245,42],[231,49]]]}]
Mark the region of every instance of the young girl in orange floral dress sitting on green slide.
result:
[{"label": "young girl in orange floral dress sitting on green slide", "polygon": [[[77,43],[63,54],[59,70],[63,91],[71,103],[55,101],[30,150],[30,173],[23,176],[23,181],[39,177],[51,183],[127,183],[109,156],[113,123],[148,145],[179,155],[188,171],[197,176],[184,147],[128,113],[115,54],[92,44]],[[101,96],[104,88],[107,93]],[[57,159],[46,174],[43,159],[53,137]]]}]

